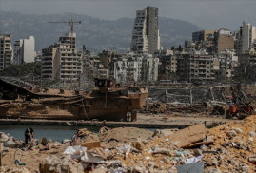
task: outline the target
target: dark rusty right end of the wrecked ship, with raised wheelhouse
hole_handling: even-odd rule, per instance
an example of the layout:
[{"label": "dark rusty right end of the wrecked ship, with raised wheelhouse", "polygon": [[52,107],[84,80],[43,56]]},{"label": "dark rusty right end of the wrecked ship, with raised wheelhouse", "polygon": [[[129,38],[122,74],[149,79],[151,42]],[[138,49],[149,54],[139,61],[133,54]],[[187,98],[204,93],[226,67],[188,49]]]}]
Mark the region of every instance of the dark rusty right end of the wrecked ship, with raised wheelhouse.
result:
[{"label": "dark rusty right end of the wrecked ship, with raised wheelhouse", "polygon": [[120,87],[113,80],[95,79],[95,87],[85,96],[86,112],[90,118],[135,121],[136,110],[145,105],[146,87]]}]

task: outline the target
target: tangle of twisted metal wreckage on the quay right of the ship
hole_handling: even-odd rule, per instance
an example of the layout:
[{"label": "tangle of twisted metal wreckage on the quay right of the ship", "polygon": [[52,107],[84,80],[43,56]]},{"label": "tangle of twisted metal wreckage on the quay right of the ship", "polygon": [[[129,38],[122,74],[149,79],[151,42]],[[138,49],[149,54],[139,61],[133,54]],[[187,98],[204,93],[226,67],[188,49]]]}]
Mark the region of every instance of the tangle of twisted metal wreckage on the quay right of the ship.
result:
[{"label": "tangle of twisted metal wreckage on the quay right of the ship", "polygon": [[151,88],[149,91],[144,113],[242,119],[255,108],[253,100],[238,86]]}]

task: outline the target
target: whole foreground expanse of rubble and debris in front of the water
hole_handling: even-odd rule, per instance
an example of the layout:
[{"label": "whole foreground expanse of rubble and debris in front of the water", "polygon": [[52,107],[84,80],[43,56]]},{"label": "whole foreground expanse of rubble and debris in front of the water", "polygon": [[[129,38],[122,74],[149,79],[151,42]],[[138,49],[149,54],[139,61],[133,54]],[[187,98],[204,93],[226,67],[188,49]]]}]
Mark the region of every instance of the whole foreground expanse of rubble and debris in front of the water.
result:
[{"label": "whole foreground expanse of rubble and debris in front of the water", "polygon": [[[6,145],[1,171],[250,173],[256,171],[255,126],[253,115],[211,129],[202,124],[154,133],[127,127],[103,127],[99,134],[81,129],[64,144],[49,141],[48,149],[40,144],[32,150]],[[10,137],[1,134],[0,141],[7,144]]]}]

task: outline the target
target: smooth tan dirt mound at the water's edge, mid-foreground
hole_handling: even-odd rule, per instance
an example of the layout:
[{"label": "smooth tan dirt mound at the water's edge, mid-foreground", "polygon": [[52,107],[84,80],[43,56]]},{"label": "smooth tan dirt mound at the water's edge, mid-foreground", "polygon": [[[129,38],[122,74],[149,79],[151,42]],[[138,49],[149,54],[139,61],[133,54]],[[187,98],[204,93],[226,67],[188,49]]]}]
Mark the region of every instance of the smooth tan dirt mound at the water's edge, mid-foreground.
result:
[{"label": "smooth tan dirt mound at the water's edge, mid-foreground", "polygon": [[120,143],[129,144],[135,142],[139,138],[147,140],[152,134],[153,132],[142,128],[120,127],[105,130],[105,132],[100,135],[100,140],[103,146],[111,148],[116,147]]}]

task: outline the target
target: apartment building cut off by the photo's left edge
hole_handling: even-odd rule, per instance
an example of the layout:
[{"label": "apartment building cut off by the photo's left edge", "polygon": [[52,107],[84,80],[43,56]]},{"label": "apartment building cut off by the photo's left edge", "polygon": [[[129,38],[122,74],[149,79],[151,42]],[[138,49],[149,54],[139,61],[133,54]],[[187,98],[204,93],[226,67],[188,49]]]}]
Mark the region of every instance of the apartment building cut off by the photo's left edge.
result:
[{"label": "apartment building cut off by the photo's left edge", "polygon": [[13,49],[9,34],[0,34],[0,70],[9,67],[13,58]]}]

